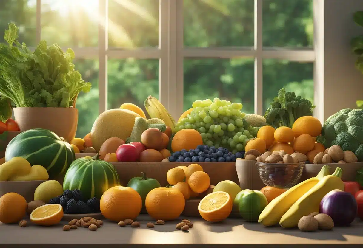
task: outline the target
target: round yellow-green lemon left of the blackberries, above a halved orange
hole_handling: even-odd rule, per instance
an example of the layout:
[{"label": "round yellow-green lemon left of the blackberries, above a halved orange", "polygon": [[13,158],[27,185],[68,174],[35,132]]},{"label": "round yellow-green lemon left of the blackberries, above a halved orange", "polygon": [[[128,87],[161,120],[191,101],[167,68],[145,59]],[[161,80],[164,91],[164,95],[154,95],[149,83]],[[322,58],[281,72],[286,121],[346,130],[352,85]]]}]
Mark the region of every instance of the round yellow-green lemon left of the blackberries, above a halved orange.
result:
[{"label": "round yellow-green lemon left of the blackberries, above a halved orange", "polygon": [[56,180],[41,183],[34,192],[34,201],[49,202],[50,199],[63,194],[63,186]]}]

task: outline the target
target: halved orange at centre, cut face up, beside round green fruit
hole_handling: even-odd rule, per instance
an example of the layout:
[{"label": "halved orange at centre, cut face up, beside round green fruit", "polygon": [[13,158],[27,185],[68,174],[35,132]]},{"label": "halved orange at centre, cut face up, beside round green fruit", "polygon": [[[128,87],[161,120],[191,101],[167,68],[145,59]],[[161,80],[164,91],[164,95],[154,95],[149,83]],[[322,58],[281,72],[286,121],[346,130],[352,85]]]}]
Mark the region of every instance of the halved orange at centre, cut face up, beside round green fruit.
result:
[{"label": "halved orange at centre, cut face up, beside round green fruit", "polygon": [[228,193],[216,191],[206,195],[198,205],[200,216],[210,222],[220,222],[231,214],[233,201]]}]

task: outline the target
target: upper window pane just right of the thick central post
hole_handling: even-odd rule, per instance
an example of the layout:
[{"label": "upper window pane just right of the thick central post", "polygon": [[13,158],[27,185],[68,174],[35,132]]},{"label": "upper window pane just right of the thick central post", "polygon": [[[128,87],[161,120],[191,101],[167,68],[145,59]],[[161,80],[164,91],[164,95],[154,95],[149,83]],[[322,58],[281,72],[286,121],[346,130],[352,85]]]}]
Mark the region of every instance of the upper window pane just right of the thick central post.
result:
[{"label": "upper window pane just right of the thick central post", "polygon": [[184,0],[184,46],[253,46],[253,0]]}]

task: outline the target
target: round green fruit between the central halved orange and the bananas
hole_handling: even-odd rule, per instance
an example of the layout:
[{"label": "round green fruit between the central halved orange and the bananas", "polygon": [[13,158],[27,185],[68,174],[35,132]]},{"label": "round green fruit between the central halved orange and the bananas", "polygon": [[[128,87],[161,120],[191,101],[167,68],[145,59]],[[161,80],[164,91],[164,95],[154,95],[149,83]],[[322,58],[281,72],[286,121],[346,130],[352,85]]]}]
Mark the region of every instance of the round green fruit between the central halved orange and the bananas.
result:
[{"label": "round green fruit between the central halved orange and the bananas", "polygon": [[262,210],[268,202],[265,195],[258,190],[242,190],[237,194],[235,202],[238,201],[238,209],[242,219],[249,222],[257,222]]}]

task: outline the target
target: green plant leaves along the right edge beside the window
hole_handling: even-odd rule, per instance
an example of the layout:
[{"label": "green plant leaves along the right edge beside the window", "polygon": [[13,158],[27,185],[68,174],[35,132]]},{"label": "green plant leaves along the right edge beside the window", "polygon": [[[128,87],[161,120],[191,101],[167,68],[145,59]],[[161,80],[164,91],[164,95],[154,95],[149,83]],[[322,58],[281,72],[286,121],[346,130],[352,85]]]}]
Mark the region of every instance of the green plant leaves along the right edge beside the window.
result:
[{"label": "green plant leaves along the right edge beside the window", "polygon": [[[363,28],[363,11],[355,12],[353,20]],[[363,73],[363,34],[352,38],[351,46],[353,53],[358,56],[355,65]],[[356,104],[358,108],[363,108],[363,100],[357,100]]]}]

